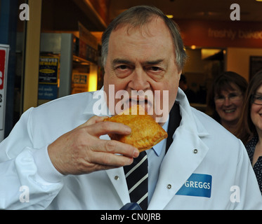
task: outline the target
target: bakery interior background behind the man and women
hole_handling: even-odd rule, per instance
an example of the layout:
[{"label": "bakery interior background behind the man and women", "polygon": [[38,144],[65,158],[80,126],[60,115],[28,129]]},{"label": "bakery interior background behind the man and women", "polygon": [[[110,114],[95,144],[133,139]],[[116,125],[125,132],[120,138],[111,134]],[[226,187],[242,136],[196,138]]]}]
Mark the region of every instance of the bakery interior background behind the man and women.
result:
[{"label": "bakery interior background behind the man and women", "polygon": [[[20,18],[24,3],[29,20]],[[222,71],[249,81],[262,69],[262,1],[0,0],[0,44],[10,45],[4,136],[32,106],[99,90],[103,31],[137,5],[157,6],[180,27],[188,54],[183,74],[199,96],[195,108],[208,113],[207,92]]]}]

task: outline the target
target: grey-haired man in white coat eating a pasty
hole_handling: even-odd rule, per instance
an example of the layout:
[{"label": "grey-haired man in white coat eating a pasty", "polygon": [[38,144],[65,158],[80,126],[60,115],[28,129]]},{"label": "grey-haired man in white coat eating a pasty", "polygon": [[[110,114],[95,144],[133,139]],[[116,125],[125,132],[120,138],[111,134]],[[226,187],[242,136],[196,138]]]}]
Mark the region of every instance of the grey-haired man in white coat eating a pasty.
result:
[{"label": "grey-haired man in white coat eating a pasty", "polygon": [[131,93],[160,90],[161,105],[173,111],[161,124],[177,127],[170,147],[165,140],[147,151],[148,209],[261,209],[242,143],[178,90],[185,52],[171,20],[157,8],[130,8],[105,31],[102,54],[105,99],[100,90],[30,109],[1,143],[1,209],[120,209],[130,202],[123,166],[138,150],[107,134],[131,130],[94,116],[98,100],[101,115],[114,114],[122,99],[114,97],[114,107],[109,95],[119,90],[129,93],[124,104],[143,102],[155,119],[156,101]]}]

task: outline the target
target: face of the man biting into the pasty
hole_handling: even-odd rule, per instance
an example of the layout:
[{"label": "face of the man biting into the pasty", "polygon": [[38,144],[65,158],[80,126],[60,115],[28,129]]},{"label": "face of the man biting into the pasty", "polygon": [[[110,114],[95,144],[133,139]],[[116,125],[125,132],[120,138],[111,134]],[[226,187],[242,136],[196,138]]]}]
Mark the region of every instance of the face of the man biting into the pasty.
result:
[{"label": "face of the man biting into the pasty", "polygon": [[[110,99],[110,85],[114,85],[114,94],[119,90],[129,93],[125,104],[138,102],[153,118],[162,117],[157,108],[167,108],[168,113],[176,100],[181,71],[176,66],[175,49],[169,29],[160,18],[153,18],[142,28],[130,28],[120,25],[112,31],[105,65],[104,87],[107,94],[107,106],[114,108],[122,99]],[[133,90],[151,91],[152,97],[133,95]],[[156,97],[156,90],[160,95]],[[168,90],[168,96],[164,95]],[[141,91],[140,91],[141,92]],[[159,98],[159,101],[157,100]],[[111,102],[110,102],[111,101]],[[164,106],[166,105],[166,107]],[[111,111],[115,113],[115,111]]]}]

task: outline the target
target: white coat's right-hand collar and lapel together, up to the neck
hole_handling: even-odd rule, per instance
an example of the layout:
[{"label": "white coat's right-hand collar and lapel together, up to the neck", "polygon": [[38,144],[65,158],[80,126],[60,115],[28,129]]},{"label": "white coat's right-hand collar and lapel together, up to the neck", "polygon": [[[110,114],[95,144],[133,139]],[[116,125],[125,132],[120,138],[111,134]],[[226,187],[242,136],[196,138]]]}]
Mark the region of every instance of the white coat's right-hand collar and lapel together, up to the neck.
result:
[{"label": "white coat's right-hand collar and lapel together, up to the neck", "polygon": [[209,151],[202,141],[209,134],[192,115],[192,109],[185,99],[180,103],[180,111],[181,124],[173,134],[173,142],[160,167],[159,179],[148,209],[164,209]]}]

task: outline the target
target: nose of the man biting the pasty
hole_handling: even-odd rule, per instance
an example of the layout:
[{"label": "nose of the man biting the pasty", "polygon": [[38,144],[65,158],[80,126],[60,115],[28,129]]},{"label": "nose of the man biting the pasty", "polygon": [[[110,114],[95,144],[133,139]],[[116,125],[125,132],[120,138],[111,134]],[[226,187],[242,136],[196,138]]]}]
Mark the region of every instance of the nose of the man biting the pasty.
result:
[{"label": "nose of the man biting the pasty", "polygon": [[150,83],[148,83],[148,75],[143,69],[136,69],[133,71],[133,76],[131,77],[131,82],[129,87],[132,90],[148,90],[150,88]]}]

